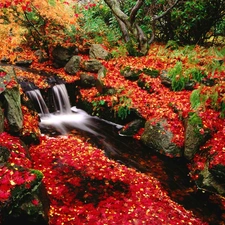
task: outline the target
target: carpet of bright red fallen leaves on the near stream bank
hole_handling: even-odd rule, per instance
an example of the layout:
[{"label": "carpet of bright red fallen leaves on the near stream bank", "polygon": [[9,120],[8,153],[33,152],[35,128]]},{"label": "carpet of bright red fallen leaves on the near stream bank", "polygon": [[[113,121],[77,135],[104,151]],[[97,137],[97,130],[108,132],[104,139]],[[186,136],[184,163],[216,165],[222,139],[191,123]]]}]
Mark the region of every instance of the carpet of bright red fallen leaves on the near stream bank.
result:
[{"label": "carpet of bright red fallen leaves on the near stream bank", "polygon": [[155,178],[109,160],[81,137],[43,137],[30,154],[44,174],[52,225],[206,224]]}]

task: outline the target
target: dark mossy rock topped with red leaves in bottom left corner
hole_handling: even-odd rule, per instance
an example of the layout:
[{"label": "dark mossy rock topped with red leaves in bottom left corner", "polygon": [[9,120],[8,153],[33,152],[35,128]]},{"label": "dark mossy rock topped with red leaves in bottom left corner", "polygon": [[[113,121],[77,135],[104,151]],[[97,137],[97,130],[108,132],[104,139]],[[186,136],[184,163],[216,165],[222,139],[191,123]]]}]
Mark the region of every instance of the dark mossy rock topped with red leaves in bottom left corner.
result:
[{"label": "dark mossy rock topped with red leaves in bottom left corner", "polygon": [[[20,184],[8,185],[11,187],[11,195],[7,203],[1,204],[1,224],[33,224],[47,225],[47,212],[49,204],[46,204],[47,192],[45,195],[42,188],[43,175],[37,170],[31,170],[20,166],[8,166],[3,164],[11,174],[21,176]],[[5,175],[5,174],[4,174]],[[3,175],[3,176],[4,176]],[[32,180],[26,181],[23,176],[33,176]],[[42,197],[45,196],[45,197]]]}]

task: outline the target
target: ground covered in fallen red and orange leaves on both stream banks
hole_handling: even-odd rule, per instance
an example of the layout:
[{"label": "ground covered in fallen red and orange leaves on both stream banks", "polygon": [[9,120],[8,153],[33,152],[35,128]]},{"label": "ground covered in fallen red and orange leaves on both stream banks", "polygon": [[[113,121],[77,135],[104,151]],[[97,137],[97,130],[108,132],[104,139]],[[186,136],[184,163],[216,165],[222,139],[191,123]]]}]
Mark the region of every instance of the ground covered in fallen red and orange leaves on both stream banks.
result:
[{"label": "ground covered in fallen red and orange leaves on both stream banks", "polygon": [[[51,67],[51,61],[38,63],[33,53],[28,50],[19,54],[20,56],[24,54],[24,58],[33,60],[31,67],[57,73],[67,83],[79,79],[79,72],[75,76],[67,75],[63,69]],[[139,79],[148,84],[143,88],[137,81],[123,77],[121,69],[126,66],[140,70],[150,68],[161,73],[173,68],[177,61],[183,63],[184,70],[198,67],[209,78],[220,81],[220,85],[214,87],[218,94],[214,103],[217,104],[217,101],[224,101],[225,74],[224,71],[216,69],[207,70],[207,65],[214,59],[219,60],[220,57],[215,57],[212,49],[206,51],[197,46],[190,51],[184,48],[183,52],[176,52],[176,50],[165,49],[164,46],[152,45],[149,54],[145,57],[123,57],[102,61],[107,69],[102,82],[106,86],[115,88],[116,94],[101,95],[98,89],[93,87],[81,89],[81,96],[90,103],[104,103],[115,111],[125,105],[128,109],[135,108],[146,120],[166,118],[169,122],[167,129],[174,134],[174,143],[182,147],[185,134],[180,117],[186,118],[193,110],[190,102],[192,91],[171,91],[161,83],[159,77],[153,78],[141,73]],[[17,69],[16,72],[18,78],[28,79],[39,88],[48,87],[44,76],[38,74],[34,76],[33,73]],[[180,78],[179,76],[181,75],[178,74],[177,79]],[[209,95],[211,93],[210,87],[196,83],[194,89],[198,88]],[[212,98],[207,100],[205,105],[198,108],[203,122],[199,132],[204,132],[206,128],[214,131],[212,138],[202,147],[204,151],[210,146],[210,153],[214,155],[214,161],[211,162],[213,166],[218,162],[224,164],[225,122],[221,112],[212,107]],[[101,110],[101,104],[98,105],[97,110]],[[32,116],[27,115],[25,109],[24,114],[29,133],[29,130],[37,128],[37,123],[30,122]],[[135,138],[138,139],[141,132]],[[11,142],[13,139],[10,140]],[[204,224],[191,211],[172,201],[158,180],[106,158],[103,150],[93,147],[80,136],[68,135],[57,138],[43,136],[41,143],[33,145],[29,152],[34,169],[44,174],[43,182],[51,203],[49,223],[52,225]],[[197,156],[194,160],[196,160],[196,168],[190,168],[193,170],[191,174],[193,177],[195,171],[201,170],[204,163]],[[13,180],[13,182],[17,181]]]}]

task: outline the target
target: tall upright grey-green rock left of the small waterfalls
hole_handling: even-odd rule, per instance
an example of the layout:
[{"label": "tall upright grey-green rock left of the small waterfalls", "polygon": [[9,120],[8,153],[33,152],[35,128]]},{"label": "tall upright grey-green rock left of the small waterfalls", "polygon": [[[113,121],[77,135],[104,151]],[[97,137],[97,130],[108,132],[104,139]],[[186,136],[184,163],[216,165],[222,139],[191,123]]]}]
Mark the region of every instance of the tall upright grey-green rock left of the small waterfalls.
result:
[{"label": "tall upright grey-green rock left of the small waterfalls", "polygon": [[23,127],[19,87],[6,89],[4,97],[6,99],[6,118],[8,120],[10,132],[17,133]]}]

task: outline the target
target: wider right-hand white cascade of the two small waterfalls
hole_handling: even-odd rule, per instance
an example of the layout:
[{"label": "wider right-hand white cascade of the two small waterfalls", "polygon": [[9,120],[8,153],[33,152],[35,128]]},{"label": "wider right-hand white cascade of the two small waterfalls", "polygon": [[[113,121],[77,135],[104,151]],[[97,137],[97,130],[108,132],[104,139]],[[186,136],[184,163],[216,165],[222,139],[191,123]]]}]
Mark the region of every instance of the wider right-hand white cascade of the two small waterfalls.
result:
[{"label": "wider right-hand white cascade of the two small waterfalls", "polygon": [[57,84],[53,86],[52,90],[55,108],[59,113],[71,113],[71,105],[65,84]]}]

